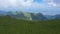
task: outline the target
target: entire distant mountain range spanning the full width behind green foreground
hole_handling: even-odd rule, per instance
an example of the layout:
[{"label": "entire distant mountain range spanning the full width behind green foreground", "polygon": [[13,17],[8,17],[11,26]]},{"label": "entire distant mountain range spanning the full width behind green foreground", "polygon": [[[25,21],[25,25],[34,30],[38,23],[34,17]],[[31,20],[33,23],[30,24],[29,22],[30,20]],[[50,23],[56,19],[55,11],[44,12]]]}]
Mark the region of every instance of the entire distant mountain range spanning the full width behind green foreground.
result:
[{"label": "entire distant mountain range spanning the full width behind green foreground", "polygon": [[24,20],[51,20],[60,18],[60,14],[51,16],[51,15],[43,15],[42,13],[29,13],[29,12],[17,12],[17,11],[0,11],[0,16],[9,15],[12,18],[16,19],[24,19]]}]

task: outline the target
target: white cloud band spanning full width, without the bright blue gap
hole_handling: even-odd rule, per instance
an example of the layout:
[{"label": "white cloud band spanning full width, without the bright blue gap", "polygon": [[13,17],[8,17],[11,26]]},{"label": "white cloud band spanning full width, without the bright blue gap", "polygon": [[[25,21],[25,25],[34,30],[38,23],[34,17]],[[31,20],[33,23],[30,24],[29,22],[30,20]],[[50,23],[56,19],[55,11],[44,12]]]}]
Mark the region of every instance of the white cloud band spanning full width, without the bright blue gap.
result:
[{"label": "white cloud band spanning full width, without the bright blue gap", "polygon": [[0,0],[0,7],[4,7],[4,8],[8,8],[8,7],[43,8],[47,6],[60,7],[60,0],[43,0],[43,2],[47,3],[47,6],[45,5],[45,3],[37,3],[33,1],[34,0]]}]

